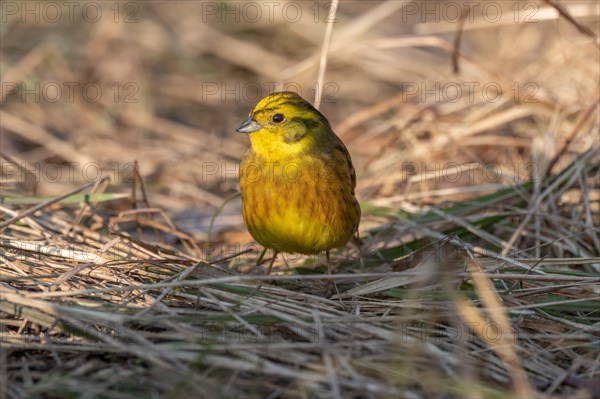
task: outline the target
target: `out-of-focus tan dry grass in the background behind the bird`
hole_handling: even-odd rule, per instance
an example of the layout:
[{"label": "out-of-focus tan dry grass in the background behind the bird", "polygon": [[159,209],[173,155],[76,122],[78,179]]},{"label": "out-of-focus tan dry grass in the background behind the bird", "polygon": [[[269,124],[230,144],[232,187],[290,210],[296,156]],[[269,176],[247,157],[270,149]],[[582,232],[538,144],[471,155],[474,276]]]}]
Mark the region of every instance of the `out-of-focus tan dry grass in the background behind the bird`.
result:
[{"label": "out-of-focus tan dry grass in the background behind the bird", "polygon": [[[509,187],[545,173],[598,96],[598,2],[560,4],[342,1],[333,15],[324,1],[5,1],[4,195],[102,176],[97,190],[128,193],[137,161],[146,205],[205,240],[238,190],[249,143],[234,128],[278,90],[321,94],[357,169],[364,230],[381,223],[370,207]],[[590,120],[559,163],[597,143]],[[216,229],[250,239],[239,198]]]}]

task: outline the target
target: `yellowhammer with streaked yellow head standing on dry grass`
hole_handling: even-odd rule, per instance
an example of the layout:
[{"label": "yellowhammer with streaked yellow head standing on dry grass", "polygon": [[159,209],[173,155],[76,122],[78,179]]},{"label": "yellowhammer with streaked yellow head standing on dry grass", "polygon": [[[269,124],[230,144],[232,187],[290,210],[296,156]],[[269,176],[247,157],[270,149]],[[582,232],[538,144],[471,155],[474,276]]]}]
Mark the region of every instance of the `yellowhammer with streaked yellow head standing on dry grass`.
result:
[{"label": "yellowhammer with streaked yellow head standing on dry grass", "polygon": [[263,98],[236,129],[250,134],[240,165],[244,221],[275,254],[317,254],[345,245],[360,206],[350,154],[329,122],[298,94]]}]

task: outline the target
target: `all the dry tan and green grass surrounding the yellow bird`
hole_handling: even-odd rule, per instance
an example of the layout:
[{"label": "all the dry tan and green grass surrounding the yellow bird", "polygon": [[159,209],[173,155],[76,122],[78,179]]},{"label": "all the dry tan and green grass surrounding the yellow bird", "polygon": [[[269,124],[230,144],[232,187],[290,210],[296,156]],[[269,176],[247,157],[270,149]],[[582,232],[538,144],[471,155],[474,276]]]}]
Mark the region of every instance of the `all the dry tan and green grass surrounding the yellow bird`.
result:
[{"label": "all the dry tan and green grass surrounding the yellow bird", "polygon": [[[326,58],[329,3],[238,22],[102,3],[97,23],[9,3],[2,397],[600,398],[597,2],[482,2],[463,23],[341,2]],[[332,276],[290,255],[265,277],[232,130],[269,82],[312,100],[325,60],[361,248]]]}]

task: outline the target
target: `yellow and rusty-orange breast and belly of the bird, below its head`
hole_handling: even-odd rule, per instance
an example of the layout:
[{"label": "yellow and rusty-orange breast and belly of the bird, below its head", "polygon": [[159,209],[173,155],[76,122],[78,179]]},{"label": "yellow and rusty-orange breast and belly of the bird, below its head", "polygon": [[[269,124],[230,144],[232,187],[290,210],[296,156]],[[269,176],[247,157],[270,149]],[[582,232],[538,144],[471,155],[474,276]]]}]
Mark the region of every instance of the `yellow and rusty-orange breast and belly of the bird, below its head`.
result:
[{"label": "yellow and rusty-orange breast and belly of the bird, below its head", "polygon": [[360,207],[348,172],[339,169],[331,155],[269,162],[249,151],[240,165],[240,188],[252,237],[288,253],[346,244],[358,228]]}]

